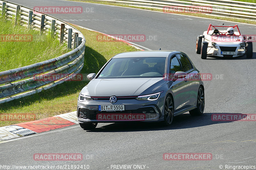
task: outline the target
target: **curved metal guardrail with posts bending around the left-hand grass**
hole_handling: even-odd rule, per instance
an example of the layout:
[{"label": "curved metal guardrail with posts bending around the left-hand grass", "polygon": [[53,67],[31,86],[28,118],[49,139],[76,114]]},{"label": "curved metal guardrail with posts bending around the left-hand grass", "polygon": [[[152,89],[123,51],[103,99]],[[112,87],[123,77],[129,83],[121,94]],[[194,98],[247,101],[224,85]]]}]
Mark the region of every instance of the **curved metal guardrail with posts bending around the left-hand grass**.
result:
[{"label": "curved metal guardrail with posts bending around the left-hand grass", "polygon": [[[15,17],[15,24],[40,30],[40,34],[58,36],[73,50],[59,57],[17,69],[0,72],[0,104],[54,87],[72,78],[84,66],[84,35],[73,26],[52,16],[35,12],[19,4],[0,0],[0,12],[7,19]],[[61,74],[60,78],[40,79]],[[40,79],[40,81],[38,81]]]}]

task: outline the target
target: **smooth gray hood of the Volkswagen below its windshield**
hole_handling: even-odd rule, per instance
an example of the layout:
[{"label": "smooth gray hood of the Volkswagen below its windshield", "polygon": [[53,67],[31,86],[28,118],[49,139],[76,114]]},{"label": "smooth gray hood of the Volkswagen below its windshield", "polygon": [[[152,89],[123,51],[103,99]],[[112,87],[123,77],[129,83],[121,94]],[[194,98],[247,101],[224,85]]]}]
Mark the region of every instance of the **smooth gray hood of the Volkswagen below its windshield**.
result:
[{"label": "smooth gray hood of the Volkswagen below its windshield", "polygon": [[138,96],[151,94],[166,83],[163,78],[111,78],[92,79],[81,94],[94,97]]}]

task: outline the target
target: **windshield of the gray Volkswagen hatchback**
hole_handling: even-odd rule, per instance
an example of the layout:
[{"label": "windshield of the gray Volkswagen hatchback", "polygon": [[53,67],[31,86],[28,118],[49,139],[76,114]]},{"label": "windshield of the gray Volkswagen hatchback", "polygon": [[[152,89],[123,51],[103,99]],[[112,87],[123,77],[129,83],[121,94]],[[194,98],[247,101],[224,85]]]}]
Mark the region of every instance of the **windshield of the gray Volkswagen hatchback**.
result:
[{"label": "windshield of the gray Volkswagen hatchback", "polygon": [[98,78],[159,78],[165,73],[166,57],[113,58]]}]

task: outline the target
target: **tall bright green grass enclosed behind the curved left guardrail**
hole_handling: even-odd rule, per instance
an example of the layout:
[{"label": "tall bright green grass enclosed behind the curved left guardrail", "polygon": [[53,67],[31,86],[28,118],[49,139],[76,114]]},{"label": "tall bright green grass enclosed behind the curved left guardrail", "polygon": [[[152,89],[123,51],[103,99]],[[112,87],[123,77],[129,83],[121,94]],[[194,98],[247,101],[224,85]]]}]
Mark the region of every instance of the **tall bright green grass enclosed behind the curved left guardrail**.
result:
[{"label": "tall bright green grass enclosed behind the curved left guardrail", "polygon": [[[0,72],[45,61],[67,53],[66,44],[50,35],[39,36],[39,31],[24,26],[14,26],[13,21],[0,16]],[[4,42],[4,34],[25,34],[32,41]]]}]

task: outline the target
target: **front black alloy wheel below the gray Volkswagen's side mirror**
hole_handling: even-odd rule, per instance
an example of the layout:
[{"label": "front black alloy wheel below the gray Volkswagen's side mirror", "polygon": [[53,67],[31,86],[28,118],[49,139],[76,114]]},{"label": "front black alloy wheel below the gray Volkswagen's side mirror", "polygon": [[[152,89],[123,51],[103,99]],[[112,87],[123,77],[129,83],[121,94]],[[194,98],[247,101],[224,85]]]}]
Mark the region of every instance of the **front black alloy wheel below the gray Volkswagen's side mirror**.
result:
[{"label": "front black alloy wheel below the gray Volkswagen's side mirror", "polygon": [[170,126],[173,122],[174,118],[174,106],[172,97],[170,95],[166,96],[165,102],[164,102],[164,125]]}]

